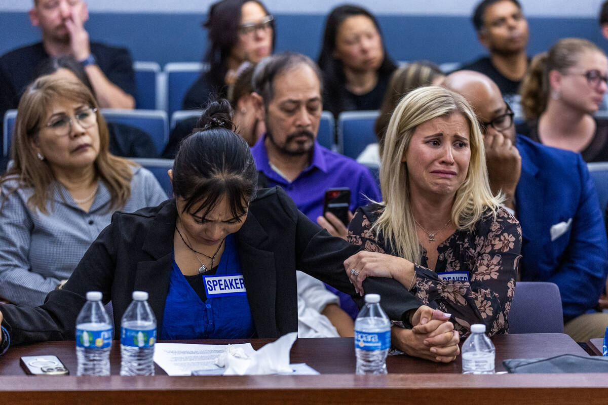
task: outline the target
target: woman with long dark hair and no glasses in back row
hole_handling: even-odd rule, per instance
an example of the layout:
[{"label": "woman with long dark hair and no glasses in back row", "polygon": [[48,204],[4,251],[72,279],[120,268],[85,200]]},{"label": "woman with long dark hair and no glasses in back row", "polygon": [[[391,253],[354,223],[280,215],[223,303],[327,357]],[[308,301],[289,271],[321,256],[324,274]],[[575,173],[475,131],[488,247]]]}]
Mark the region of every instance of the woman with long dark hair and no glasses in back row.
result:
[{"label": "woman with long dark hair and no glasses in back row", "polygon": [[386,52],[378,21],[356,5],[340,5],[325,22],[319,55],[323,72],[323,108],[377,110],[396,65]]}]

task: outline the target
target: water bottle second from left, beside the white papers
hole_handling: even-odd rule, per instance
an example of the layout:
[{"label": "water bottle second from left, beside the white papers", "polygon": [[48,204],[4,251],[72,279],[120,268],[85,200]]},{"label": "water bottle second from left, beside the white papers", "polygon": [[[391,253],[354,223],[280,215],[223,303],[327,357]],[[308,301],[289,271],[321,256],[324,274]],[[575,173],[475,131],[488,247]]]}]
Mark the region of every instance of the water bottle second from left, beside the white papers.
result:
[{"label": "water bottle second from left, beside the white papers", "polygon": [[133,302],[120,321],[120,375],[154,375],[156,317],[148,293],[133,291]]}]

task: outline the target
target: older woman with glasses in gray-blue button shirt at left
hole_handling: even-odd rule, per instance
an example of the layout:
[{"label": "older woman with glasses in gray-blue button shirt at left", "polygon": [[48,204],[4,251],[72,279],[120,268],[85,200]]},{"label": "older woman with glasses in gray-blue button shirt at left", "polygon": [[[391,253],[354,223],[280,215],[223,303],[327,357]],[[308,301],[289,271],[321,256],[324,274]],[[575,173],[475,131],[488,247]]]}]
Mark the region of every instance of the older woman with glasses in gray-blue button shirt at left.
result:
[{"label": "older woman with glasses in gray-blue button shirt at left", "polygon": [[0,179],[0,297],[40,305],[60,287],[112,213],[167,196],[146,169],[108,152],[88,87],[42,76],[21,97],[12,165]]}]

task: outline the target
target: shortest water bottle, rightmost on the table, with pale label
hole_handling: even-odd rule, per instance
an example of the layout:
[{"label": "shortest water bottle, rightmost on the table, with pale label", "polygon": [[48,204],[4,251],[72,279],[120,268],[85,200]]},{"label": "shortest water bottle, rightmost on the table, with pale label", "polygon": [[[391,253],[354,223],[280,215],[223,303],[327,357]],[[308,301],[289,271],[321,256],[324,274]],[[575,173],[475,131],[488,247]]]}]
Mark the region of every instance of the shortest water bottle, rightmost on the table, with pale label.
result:
[{"label": "shortest water bottle, rightmost on the table, with pale label", "polygon": [[471,335],[462,345],[463,374],[494,374],[494,344],[486,336],[486,325],[471,325]]}]

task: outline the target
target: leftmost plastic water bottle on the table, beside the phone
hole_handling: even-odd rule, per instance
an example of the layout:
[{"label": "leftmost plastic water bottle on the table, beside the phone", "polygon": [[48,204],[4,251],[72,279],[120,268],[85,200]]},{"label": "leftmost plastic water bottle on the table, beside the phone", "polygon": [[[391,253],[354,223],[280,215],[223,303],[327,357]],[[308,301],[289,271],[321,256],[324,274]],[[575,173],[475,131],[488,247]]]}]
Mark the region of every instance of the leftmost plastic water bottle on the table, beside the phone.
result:
[{"label": "leftmost plastic water bottle on the table, beside the phone", "polygon": [[86,304],[76,318],[77,375],[110,375],[112,322],[102,304],[102,293],[86,293]]}]

